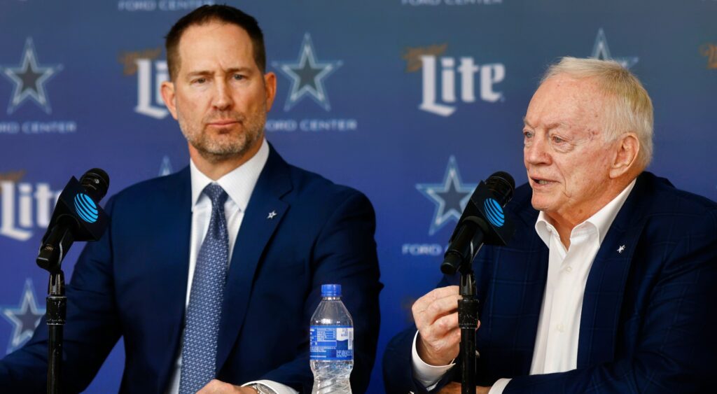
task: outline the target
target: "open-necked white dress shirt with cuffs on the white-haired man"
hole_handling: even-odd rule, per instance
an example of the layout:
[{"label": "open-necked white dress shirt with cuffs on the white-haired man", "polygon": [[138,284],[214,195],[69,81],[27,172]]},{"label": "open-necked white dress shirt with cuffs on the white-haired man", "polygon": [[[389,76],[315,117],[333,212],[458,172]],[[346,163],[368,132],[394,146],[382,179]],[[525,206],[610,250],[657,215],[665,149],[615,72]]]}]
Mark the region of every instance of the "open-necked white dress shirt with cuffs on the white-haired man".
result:
[{"label": "open-necked white dress shirt with cuffs on the white-haired man", "polygon": [[[535,229],[550,254],[531,375],[565,372],[577,367],[580,315],[590,267],[633,186],[635,181],[593,216],[575,226],[568,249],[546,214],[538,213]],[[415,338],[412,359],[414,376],[429,390],[455,365],[427,365],[418,356]],[[510,381],[498,379],[489,394],[503,393]]]}]

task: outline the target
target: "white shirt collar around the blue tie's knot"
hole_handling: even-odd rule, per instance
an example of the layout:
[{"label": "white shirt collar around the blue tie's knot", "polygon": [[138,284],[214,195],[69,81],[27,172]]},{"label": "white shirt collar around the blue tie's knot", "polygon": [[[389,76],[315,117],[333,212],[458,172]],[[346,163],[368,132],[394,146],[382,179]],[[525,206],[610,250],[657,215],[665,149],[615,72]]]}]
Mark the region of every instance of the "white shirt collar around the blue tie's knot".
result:
[{"label": "white shirt collar around the blue tie's knot", "polygon": [[216,182],[201,173],[196,168],[194,161],[189,160],[189,171],[191,173],[191,210],[194,211],[197,203],[202,196],[202,191],[209,183],[217,183],[222,186],[224,191],[229,195],[229,199],[239,206],[239,210],[244,211],[249,205],[249,198],[252,196],[254,187],[257,185],[264,165],[269,158],[269,143],[266,138],[262,138],[262,145],[259,151],[250,158],[246,163],[239,165],[234,170],[219,178]]}]

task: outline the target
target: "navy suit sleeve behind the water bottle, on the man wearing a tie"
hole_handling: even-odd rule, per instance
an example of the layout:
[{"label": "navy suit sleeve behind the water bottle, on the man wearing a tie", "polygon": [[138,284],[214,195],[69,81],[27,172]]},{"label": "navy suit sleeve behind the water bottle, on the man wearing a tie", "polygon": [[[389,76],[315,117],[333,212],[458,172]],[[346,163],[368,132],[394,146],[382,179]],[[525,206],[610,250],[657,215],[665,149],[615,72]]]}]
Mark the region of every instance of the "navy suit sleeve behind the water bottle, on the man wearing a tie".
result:
[{"label": "navy suit sleeve behind the water bottle, on the man wearing a tie", "polygon": [[[341,284],[342,301],[353,318],[353,393],[369,385],[379,337],[379,263],[376,256],[376,217],[368,198],[356,191],[338,196],[341,202],[320,230],[313,247],[311,291],[304,305],[309,322],[321,299],[321,284]],[[262,379],[311,392],[308,342],[301,354],[262,376]]]}]

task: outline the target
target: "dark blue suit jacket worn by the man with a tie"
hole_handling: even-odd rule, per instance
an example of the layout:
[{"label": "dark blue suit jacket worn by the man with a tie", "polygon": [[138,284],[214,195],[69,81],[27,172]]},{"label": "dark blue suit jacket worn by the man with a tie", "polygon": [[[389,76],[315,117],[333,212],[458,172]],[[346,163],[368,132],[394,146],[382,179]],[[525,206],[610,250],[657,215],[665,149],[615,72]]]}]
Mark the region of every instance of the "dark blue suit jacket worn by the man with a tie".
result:
[{"label": "dark blue suit jacket worn by the man with a tie", "polygon": [[[67,286],[63,378],[83,390],[120,336],[120,392],[163,393],[184,325],[191,184],[189,168],[138,183],[107,204],[111,224],[87,244]],[[267,218],[275,211],[275,218]],[[232,254],[222,307],[217,378],[275,380],[310,393],[308,325],[320,285],[338,283],[353,315],[351,383],[364,392],[379,334],[375,216],[361,193],[288,165],[273,148]],[[0,392],[44,393],[44,320],[0,362]]]}]

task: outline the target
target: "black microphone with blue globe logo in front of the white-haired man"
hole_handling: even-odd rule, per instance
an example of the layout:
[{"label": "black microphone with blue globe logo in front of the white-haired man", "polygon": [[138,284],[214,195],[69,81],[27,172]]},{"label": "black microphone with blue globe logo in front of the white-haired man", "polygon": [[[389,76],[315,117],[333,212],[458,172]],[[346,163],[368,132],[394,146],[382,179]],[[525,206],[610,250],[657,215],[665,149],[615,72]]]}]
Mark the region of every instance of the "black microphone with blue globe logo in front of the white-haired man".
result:
[{"label": "black microphone with blue globe logo in front of the white-haired man", "polygon": [[441,272],[452,275],[462,267],[470,269],[483,244],[508,243],[514,229],[512,222],[505,217],[503,207],[513,198],[515,188],[516,181],[503,171],[478,184],[450,238]]}]

